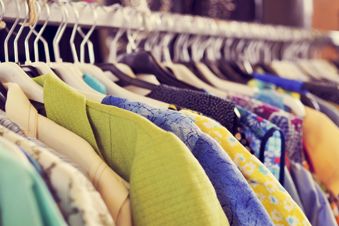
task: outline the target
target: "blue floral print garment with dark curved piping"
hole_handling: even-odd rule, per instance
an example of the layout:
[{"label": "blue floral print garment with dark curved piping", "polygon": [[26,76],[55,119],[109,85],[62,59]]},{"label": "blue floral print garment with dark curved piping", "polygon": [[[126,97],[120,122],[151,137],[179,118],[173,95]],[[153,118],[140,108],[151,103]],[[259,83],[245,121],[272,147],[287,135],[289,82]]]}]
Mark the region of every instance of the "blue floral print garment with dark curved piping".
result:
[{"label": "blue floral print garment with dark curved piping", "polygon": [[[240,112],[240,125],[259,160],[284,184],[285,136],[273,123],[253,112],[236,106]],[[282,170],[280,170],[282,169]]]}]

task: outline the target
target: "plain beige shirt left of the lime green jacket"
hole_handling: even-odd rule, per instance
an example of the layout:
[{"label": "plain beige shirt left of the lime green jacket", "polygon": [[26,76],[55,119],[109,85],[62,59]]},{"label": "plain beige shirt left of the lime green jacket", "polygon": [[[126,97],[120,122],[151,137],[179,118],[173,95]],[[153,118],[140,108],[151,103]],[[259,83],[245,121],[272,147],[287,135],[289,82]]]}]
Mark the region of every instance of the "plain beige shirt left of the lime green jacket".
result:
[{"label": "plain beige shirt left of the lime green jacket", "polygon": [[129,183],[111,170],[84,139],[39,115],[15,83],[7,83],[6,117],[84,168],[116,225],[133,225]]}]

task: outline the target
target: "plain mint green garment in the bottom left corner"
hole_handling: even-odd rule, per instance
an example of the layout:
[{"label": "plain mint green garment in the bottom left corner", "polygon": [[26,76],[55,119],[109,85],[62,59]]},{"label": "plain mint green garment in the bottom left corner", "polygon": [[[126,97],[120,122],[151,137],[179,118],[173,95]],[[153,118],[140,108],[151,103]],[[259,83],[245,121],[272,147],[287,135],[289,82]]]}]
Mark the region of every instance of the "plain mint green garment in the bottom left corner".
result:
[{"label": "plain mint green garment in the bottom left corner", "polygon": [[32,165],[0,144],[1,225],[67,226],[52,195]]}]

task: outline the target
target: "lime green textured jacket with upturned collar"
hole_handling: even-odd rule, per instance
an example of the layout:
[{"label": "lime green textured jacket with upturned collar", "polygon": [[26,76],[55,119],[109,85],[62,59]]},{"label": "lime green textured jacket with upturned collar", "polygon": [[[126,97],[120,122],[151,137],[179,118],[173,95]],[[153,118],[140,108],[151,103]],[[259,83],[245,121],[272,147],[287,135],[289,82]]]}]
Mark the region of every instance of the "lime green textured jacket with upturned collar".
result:
[{"label": "lime green textured jacket with upturned collar", "polygon": [[142,116],[85,100],[51,74],[47,117],[90,143],[130,182],[134,225],[229,225],[214,188],[184,143]]}]

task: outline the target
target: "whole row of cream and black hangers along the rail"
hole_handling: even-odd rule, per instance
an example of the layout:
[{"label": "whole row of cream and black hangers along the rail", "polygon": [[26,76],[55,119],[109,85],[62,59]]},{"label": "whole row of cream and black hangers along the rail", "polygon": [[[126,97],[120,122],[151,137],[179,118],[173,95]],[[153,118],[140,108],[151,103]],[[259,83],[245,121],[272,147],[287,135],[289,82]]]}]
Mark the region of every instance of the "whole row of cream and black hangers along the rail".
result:
[{"label": "whole row of cream and black hangers along the rail", "polygon": [[[107,7],[83,2],[71,3],[69,1],[53,0],[47,3],[46,0],[41,0],[48,16],[41,30],[37,32],[35,31],[35,27],[39,21],[41,6],[39,1],[35,1],[37,20],[32,26],[30,26],[30,32],[25,39],[26,62],[24,65],[19,66],[16,43],[22,29],[25,26],[29,14],[28,4],[26,1],[24,1],[25,19],[14,40],[15,62],[8,62],[8,39],[19,21],[21,10],[18,0],[14,1],[17,6],[17,17],[5,40],[6,62],[0,64],[0,80],[3,83],[17,83],[26,93],[26,96],[31,100],[43,103],[43,89],[40,85],[37,85],[34,81],[32,81],[30,77],[36,77],[46,73],[52,73],[54,76],[62,79],[65,83],[85,95],[86,99],[99,103],[105,96],[89,87],[82,79],[83,74],[88,73],[102,82],[106,87],[107,95],[114,95],[164,108],[168,108],[170,104],[145,97],[145,95],[147,95],[150,90],[154,90],[157,85],[159,85],[159,82],[180,88],[189,88],[193,90],[204,89],[220,97],[227,95],[227,91],[234,91],[242,95],[253,97],[254,93],[258,91],[257,88],[228,81],[230,79],[225,76],[225,72],[231,72],[232,74],[234,71],[236,71],[236,73],[233,73],[235,76],[239,76],[238,72],[241,73],[246,71],[247,73],[251,73],[251,64],[249,61],[246,61],[246,59],[243,58],[241,63],[236,61],[230,62],[228,56],[234,55],[234,51],[239,54],[240,52],[249,52],[249,49],[259,49],[261,45],[260,40],[241,41],[240,39],[235,41],[235,37],[230,35],[230,37],[224,41],[225,38],[222,36],[218,37],[217,34],[220,32],[225,32],[226,29],[220,29],[222,26],[218,26],[218,23],[215,20],[202,17],[197,17],[199,20],[192,20],[193,17],[182,17],[169,14],[154,14],[152,17],[146,16],[140,11],[132,8],[122,8],[120,5],[110,6],[110,8],[114,8],[115,11],[121,10],[123,12],[124,26],[118,30],[114,40],[110,43],[109,62],[94,64],[94,50],[89,37],[92,31],[96,28],[98,18],[97,7],[102,7],[103,9],[107,9]],[[2,5],[2,14],[0,19],[2,20],[5,8],[2,0],[0,0],[0,3]],[[55,62],[50,62],[48,43],[42,37],[42,33],[48,24],[48,18],[50,14],[49,4],[58,4],[62,16],[62,21],[53,39]],[[70,4],[72,6],[73,13],[77,18],[77,21],[73,26],[70,39],[74,63],[62,62],[62,59],[60,58],[59,43],[68,24],[69,12],[67,11],[65,4]],[[87,34],[84,34],[81,28],[78,26],[79,12],[73,4],[82,4],[84,7],[90,7],[92,10],[93,24]],[[138,23],[140,24],[140,29],[137,29],[133,34],[131,32],[130,26],[130,13],[138,15]],[[187,18],[190,18],[190,20],[187,20]],[[159,29],[149,32],[148,30],[150,29],[147,29],[147,26],[148,24],[152,24],[150,23],[152,21],[155,22],[153,24],[156,24],[157,28]],[[164,35],[160,32],[160,28],[165,26],[165,23],[162,21],[166,21],[167,25],[167,32]],[[175,37],[176,33],[174,32],[174,27],[176,26],[181,26],[180,29],[186,30],[187,32],[179,34],[176,39],[174,44],[173,60],[175,63],[172,63],[168,46]],[[205,32],[209,32],[209,35],[190,33],[193,30],[195,32],[197,30],[204,30]],[[239,28],[239,30],[241,29]],[[77,31],[83,37],[80,51],[80,62],[74,46],[74,37]],[[35,62],[31,62],[29,58],[28,40],[32,33],[36,35],[34,40]],[[119,55],[117,58],[117,42],[123,34],[126,34],[128,40],[126,49],[127,53]],[[144,40],[145,36],[146,40]],[[37,42],[39,40],[44,43],[46,62],[39,61],[37,47]],[[145,41],[144,50],[140,50],[141,48],[138,46],[143,40]],[[230,40],[233,40],[232,43]],[[271,40],[270,42],[273,41]],[[88,45],[90,63],[84,62],[85,44]],[[313,45],[314,43],[311,42],[311,44]],[[274,46],[274,43],[272,46]],[[220,54],[222,47],[225,53],[224,57],[220,58],[222,55]],[[263,49],[265,50],[265,48]],[[287,51],[286,49],[288,48],[286,47],[284,49]],[[256,53],[254,55],[260,56],[260,53]],[[163,63],[161,63],[162,58],[164,59]],[[263,59],[267,58],[268,56],[263,57]],[[12,76],[12,74],[15,76]],[[142,75],[136,76],[135,74]],[[150,74],[153,76],[150,76]],[[243,74],[246,76],[246,73]],[[117,83],[121,86],[124,86],[125,88],[122,88],[114,82],[117,80],[119,80]],[[6,103],[6,89],[0,87],[0,92],[2,93],[0,97],[0,108],[5,110],[4,106]],[[283,97],[284,104],[290,107],[296,115],[306,115],[305,108],[298,99],[286,95],[285,93],[276,93],[276,95]]]}]

